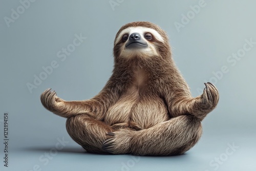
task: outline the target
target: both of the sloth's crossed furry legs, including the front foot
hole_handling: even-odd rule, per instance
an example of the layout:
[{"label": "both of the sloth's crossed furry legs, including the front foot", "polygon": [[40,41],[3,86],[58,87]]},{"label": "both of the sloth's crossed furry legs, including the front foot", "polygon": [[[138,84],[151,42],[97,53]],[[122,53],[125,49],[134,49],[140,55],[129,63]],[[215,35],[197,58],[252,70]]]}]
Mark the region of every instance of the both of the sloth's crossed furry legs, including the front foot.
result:
[{"label": "both of the sloth's crossed furry legs, including the front foot", "polygon": [[202,134],[199,119],[182,115],[140,131],[113,130],[87,115],[68,118],[69,135],[90,153],[180,155],[193,147]]}]

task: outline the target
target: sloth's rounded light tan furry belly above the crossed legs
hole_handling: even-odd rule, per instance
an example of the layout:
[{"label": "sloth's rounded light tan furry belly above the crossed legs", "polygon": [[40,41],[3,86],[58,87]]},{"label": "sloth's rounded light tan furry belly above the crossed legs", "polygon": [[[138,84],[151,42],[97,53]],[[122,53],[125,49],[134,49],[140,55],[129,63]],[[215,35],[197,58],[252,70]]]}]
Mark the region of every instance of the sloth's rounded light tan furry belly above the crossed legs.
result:
[{"label": "sloth's rounded light tan furry belly above the crossed legs", "polygon": [[169,119],[164,101],[156,95],[127,92],[109,108],[105,123],[115,129],[147,129]]}]

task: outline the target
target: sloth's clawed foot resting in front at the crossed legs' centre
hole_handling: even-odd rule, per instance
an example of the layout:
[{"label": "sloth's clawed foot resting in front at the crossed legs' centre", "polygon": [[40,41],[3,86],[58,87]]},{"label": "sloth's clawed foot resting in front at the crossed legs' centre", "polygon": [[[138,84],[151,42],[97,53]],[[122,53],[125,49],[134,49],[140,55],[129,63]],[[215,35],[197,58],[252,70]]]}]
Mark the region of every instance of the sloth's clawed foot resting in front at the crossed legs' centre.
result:
[{"label": "sloth's clawed foot resting in front at the crossed legs' centre", "polygon": [[129,153],[133,133],[135,133],[135,131],[118,130],[117,132],[106,134],[110,136],[110,138],[103,142],[102,149],[112,154]]}]

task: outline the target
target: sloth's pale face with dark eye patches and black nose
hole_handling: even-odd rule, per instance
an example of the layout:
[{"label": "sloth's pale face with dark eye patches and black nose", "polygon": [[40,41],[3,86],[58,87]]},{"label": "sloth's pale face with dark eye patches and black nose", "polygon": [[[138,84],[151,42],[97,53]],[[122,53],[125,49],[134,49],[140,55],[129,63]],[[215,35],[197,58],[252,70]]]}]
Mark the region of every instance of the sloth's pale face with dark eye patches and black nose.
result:
[{"label": "sloth's pale face with dark eye patches and black nose", "polygon": [[163,37],[154,29],[145,27],[129,27],[122,30],[116,40],[121,57],[158,56],[158,44],[164,42]]}]

